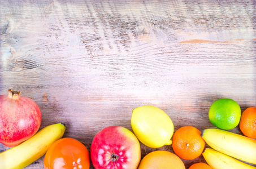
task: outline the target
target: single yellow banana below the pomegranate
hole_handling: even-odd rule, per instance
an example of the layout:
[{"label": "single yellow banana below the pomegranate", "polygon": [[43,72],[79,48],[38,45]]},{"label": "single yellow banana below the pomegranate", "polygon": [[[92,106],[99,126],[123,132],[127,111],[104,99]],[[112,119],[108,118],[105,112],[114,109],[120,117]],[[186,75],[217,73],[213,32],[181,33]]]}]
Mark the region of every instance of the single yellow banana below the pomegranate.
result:
[{"label": "single yellow banana below the pomegranate", "polygon": [[42,157],[51,144],[62,138],[65,129],[62,123],[52,124],[23,143],[0,153],[0,168],[19,169],[28,166]]}]

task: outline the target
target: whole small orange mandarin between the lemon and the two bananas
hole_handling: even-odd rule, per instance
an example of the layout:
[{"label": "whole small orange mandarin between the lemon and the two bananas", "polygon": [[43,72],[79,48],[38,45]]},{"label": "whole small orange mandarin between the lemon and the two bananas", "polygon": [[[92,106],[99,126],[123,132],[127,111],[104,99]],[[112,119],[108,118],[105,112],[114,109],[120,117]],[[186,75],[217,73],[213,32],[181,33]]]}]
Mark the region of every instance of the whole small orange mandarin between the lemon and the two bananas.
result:
[{"label": "whole small orange mandarin between the lemon and the two bananas", "polygon": [[202,154],[204,148],[205,140],[196,127],[184,126],[173,134],[172,149],[180,158],[195,159]]}]

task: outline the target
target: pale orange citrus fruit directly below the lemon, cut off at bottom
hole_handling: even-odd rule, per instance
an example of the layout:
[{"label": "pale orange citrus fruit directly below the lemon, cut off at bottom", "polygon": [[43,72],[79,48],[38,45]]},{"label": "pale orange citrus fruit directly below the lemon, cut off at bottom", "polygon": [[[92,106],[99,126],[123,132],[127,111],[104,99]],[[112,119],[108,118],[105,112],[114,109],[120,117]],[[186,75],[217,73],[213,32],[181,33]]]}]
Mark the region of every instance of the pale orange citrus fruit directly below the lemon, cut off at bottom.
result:
[{"label": "pale orange citrus fruit directly below the lemon, cut off at bottom", "polygon": [[167,151],[154,151],[142,158],[138,169],[185,169],[183,161],[176,154]]}]

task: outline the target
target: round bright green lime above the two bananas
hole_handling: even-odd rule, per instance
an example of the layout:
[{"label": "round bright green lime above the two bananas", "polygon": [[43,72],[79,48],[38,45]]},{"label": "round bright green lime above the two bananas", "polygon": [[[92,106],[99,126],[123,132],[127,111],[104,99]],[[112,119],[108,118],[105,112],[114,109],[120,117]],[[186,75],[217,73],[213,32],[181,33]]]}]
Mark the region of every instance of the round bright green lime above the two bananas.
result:
[{"label": "round bright green lime above the two bananas", "polygon": [[219,99],[212,103],[209,109],[209,119],[215,127],[223,130],[235,128],[241,118],[241,109],[232,99]]}]

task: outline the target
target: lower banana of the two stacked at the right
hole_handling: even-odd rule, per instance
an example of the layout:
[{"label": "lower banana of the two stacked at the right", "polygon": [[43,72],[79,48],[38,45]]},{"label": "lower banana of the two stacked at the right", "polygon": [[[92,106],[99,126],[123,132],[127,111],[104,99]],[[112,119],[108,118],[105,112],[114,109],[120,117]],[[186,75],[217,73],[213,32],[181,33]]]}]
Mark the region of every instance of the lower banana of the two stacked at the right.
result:
[{"label": "lower banana of the two stacked at the right", "polygon": [[202,154],[212,169],[256,169],[256,167],[238,161],[229,155],[220,153],[211,148],[206,148]]}]

